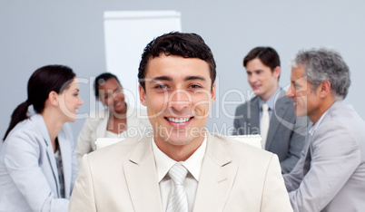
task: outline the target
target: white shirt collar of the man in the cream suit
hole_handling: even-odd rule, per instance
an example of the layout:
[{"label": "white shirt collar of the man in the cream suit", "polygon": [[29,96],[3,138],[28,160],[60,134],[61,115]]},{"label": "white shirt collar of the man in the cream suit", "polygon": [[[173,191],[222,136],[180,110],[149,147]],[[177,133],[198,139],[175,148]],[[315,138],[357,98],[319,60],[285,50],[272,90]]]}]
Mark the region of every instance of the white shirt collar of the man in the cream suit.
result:
[{"label": "white shirt collar of the man in the cream suit", "polygon": [[[173,167],[177,161],[171,159],[162,150],[158,149],[153,138],[151,140],[153,145],[154,160],[156,162],[157,177],[159,182],[166,176],[167,172]],[[180,161],[186,169],[192,174],[192,177],[199,182],[202,170],[202,159],[204,158],[205,149],[207,147],[207,138],[202,141],[202,145],[192,153],[192,156],[185,161]]]}]

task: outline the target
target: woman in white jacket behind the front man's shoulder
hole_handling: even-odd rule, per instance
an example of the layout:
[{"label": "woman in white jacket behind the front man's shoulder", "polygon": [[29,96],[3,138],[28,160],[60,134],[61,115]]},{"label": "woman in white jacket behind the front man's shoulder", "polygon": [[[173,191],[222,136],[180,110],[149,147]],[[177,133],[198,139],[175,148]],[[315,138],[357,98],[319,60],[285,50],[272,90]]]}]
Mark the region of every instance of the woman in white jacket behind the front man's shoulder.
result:
[{"label": "woman in white jacket behind the front man's shoulder", "polygon": [[94,93],[96,100],[101,101],[106,109],[92,112],[85,121],[75,150],[79,162],[84,154],[95,150],[96,139],[141,135],[146,132],[146,127],[151,126],[146,111],[137,112],[124,101],[123,87],[112,73],[104,72],[95,78]]}]

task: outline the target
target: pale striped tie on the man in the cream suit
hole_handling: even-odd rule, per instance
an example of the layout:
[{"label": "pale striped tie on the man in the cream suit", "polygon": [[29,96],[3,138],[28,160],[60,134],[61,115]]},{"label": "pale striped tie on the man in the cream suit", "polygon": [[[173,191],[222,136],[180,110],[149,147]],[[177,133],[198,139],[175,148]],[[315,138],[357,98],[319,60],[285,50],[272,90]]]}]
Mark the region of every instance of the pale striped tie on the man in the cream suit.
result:
[{"label": "pale striped tie on the man in the cream suit", "polygon": [[173,168],[169,170],[169,176],[173,179],[175,188],[169,200],[166,212],[187,212],[188,199],[183,189],[183,180],[186,177],[188,170],[182,164],[176,163]]}]

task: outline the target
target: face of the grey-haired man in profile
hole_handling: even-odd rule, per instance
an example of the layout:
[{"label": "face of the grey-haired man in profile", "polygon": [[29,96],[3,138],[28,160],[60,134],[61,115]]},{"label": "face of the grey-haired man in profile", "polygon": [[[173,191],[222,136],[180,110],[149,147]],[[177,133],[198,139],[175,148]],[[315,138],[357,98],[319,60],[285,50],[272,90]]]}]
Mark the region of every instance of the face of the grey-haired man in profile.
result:
[{"label": "face of the grey-haired man in profile", "polygon": [[[297,116],[306,116],[313,121],[321,114],[320,101],[318,91],[311,89],[311,82],[308,82],[304,77],[304,67],[291,69],[291,87],[286,93],[294,102],[295,114]],[[318,90],[318,89],[317,89]],[[321,115],[320,115],[321,117]]]}]

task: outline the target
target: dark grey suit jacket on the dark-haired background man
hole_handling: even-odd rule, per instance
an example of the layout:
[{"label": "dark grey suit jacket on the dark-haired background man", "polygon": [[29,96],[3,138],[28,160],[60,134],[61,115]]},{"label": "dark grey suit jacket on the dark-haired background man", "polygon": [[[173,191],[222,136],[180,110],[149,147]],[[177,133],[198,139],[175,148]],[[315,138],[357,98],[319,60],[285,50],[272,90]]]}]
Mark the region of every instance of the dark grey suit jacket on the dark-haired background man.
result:
[{"label": "dark grey suit jacket on the dark-haired background man", "polygon": [[[282,173],[289,173],[301,157],[307,130],[307,117],[297,118],[290,98],[281,91],[272,110],[265,149],[278,155]],[[236,135],[260,134],[259,97],[237,107]]]}]

